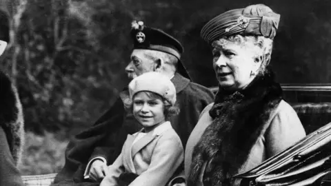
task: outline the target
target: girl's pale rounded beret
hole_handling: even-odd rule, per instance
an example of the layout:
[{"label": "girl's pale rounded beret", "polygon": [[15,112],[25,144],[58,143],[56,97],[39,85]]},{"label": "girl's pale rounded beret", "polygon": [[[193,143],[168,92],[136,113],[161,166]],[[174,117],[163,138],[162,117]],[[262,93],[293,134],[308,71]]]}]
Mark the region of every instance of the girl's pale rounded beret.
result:
[{"label": "girl's pale rounded beret", "polygon": [[129,83],[131,100],[134,94],[141,91],[149,91],[159,94],[172,105],[176,102],[176,89],[174,84],[167,76],[164,76],[159,72],[147,72],[141,74]]}]

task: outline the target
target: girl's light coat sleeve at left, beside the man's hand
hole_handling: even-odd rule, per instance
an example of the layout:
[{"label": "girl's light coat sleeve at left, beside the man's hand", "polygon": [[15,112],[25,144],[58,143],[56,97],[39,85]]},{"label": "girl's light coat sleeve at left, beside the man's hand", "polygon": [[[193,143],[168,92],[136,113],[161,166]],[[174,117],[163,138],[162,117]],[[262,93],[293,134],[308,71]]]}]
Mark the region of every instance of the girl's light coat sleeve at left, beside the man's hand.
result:
[{"label": "girl's light coat sleeve at left, beside the man's hand", "polygon": [[[124,148],[124,147],[123,147]],[[108,166],[108,174],[100,183],[100,186],[117,186],[117,179],[125,171],[123,165],[123,149],[117,159]]]}]

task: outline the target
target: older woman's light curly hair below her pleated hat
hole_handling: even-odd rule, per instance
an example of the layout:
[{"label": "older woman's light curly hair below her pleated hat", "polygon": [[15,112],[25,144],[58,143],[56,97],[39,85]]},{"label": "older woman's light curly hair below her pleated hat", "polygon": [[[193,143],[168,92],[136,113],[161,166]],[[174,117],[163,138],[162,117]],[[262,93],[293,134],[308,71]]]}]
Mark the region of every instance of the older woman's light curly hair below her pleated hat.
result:
[{"label": "older woman's light curly hair below her pleated hat", "polygon": [[231,41],[239,45],[245,45],[247,42],[253,42],[254,45],[258,46],[261,49],[262,63],[259,68],[259,75],[263,75],[267,72],[267,67],[270,63],[273,40],[270,38],[265,38],[263,36],[247,35],[242,36],[240,34],[232,35],[230,37],[223,37],[219,40],[216,40],[212,43],[213,48],[221,48],[224,45],[225,41]]}]

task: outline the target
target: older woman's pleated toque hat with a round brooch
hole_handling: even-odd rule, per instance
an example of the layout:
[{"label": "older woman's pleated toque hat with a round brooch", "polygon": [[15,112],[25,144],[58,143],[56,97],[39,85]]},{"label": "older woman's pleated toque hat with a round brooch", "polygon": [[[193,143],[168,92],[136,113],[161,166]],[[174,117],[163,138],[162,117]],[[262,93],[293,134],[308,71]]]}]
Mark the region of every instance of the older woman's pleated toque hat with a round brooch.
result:
[{"label": "older woman's pleated toque hat with a round brooch", "polygon": [[201,37],[208,43],[234,34],[273,39],[280,17],[280,14],[263,4],[229,10],[206,23],[201,30]]}]

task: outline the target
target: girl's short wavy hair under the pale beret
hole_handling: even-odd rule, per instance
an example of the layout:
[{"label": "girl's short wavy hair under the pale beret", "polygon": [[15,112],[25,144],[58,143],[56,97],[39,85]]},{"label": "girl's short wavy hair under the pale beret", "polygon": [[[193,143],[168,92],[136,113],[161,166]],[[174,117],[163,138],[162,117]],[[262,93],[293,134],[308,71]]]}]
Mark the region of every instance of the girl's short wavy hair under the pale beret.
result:
[{"label": "girl's short wavy hair under the pale beret", "polygon": [[[152,98],[152,99],[161,99],[163,101],[163,106],[164,106],[164,116],[165,116],[165,120],[168,121],[170,120],[170,118],[172,116],[176,116],[177,114],[179,114],[179,107],[178,104],[175,103],[174,105],[171,105],[169,101],[167,101],[166,99],[164,99],[162,96],[160,96],[157,93],[154,92],[149,92],[149,91],[143,91],[147,94],[148,97]],[[134,96],[133,96],[134,99]],[[123,100],[124,103],[124,107],[126,108],[126,110],[128,112],[132,112],[133,109],[133,102],[131,99],[124,99]]]}]

